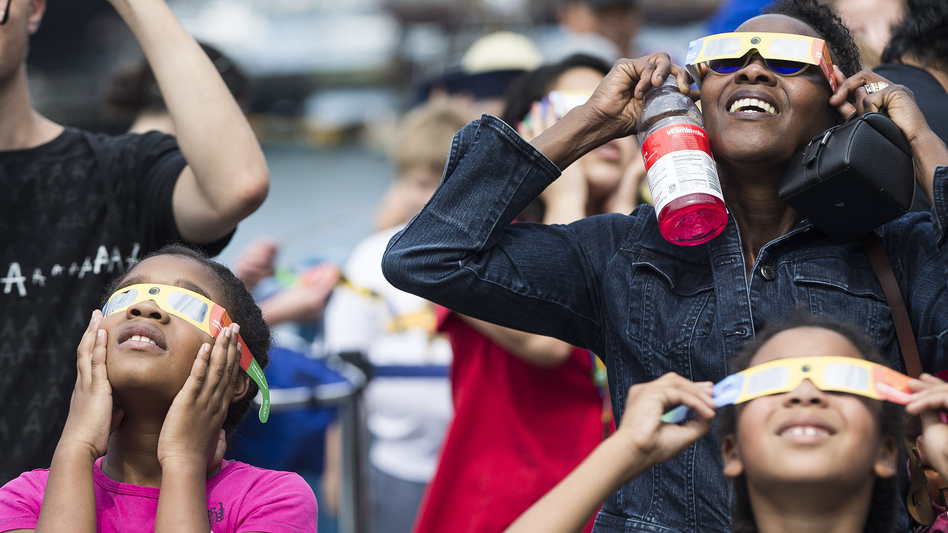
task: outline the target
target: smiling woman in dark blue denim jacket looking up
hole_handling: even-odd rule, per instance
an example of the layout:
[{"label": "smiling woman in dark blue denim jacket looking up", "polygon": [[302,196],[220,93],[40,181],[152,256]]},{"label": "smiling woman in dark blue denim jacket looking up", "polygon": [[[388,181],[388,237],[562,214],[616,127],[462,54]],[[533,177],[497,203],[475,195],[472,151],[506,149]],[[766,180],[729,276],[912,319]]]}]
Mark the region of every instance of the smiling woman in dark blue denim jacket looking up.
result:
[{"label": "smiling woman in dark blue denim jacket looking up", "polygon": [[[664,53],[620,60],[586,104],[528,143],[483,116],[454,139],[441,187],[392,238],[383,260],[400,288],[475,318],[553,336],[593,350],[609,366],[611,402],[675,372],[718,381],[728,361],[765,322],[793,308],[859,324],[898,368],[889,308],[859,242],[838,244],[777,198],[796,149],[853,112],[884,109],[909,139],[931,212],[912,212],[877,230],[902,289],[928,372],[948,368],[948,149],[901,85],[859,71],[858,51],[839,17],[817,0],[782,0],[740,31],[827,41],[839,83],[811,67],[779,76],[754,55],[736,73],[702,85],[708,137],[730,211],[727,227],[693,247],[668,243],[655,212],[605,214],[566,226],[511,224],[577,157],[634,134],[641,98],[670,73],[687,90],[684,68]],[[847,76],[849,78],[847,79]],[[742,95],[775,114],[730,113]],[[848,103],[855,101],[855,105]],[[650,469],[612,495],[596,531],[723,532],[729,487],[713,437]],[[902,527],[908,524],[902,515]]]}]

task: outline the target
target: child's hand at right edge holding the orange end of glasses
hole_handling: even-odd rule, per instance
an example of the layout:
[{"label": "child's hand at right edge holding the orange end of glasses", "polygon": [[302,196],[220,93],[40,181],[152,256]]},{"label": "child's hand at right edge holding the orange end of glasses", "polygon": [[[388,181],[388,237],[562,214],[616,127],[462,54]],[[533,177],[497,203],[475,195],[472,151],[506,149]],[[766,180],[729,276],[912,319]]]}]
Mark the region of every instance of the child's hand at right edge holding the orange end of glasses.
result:
[{"label": "child's hand at right edge holding the orange end of glasses", "polygon": [[[941,417],[948,410],[948,383],[922,374],[909,386],[915,394],[905,405],[905,413],[921,417],[919,444],[924,446],[925,463],[935,467],[941,475],[948,475],[948,424]],[[921,451],[922,446],[919,449]]]}]

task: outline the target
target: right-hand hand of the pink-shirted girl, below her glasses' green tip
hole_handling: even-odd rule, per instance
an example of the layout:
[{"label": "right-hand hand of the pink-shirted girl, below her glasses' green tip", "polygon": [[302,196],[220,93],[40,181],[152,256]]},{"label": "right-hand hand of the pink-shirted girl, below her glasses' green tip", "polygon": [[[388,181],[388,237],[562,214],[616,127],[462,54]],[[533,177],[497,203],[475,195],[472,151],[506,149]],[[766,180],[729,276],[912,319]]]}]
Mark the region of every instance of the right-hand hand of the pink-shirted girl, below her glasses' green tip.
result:
[{"label": "right-hand hand of the pink-shirted girl, below her glasses' green tip", "polygon": [[238,333],[239,326],[232,324],[217,335],[213,348],[205,343],[198,349],[191,376],[174,396],[158,436],[163,469],[180,463],[206,472],[220,462],[221,427],[240,379]]}]

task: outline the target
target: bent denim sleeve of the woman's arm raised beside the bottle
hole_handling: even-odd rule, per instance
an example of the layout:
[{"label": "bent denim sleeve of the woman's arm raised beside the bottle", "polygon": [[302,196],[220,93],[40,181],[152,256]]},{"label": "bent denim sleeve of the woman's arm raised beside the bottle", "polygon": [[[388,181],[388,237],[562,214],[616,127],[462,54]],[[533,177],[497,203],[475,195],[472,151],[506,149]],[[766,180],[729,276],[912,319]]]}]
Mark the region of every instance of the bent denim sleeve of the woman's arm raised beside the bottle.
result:
[{"label": "bent denim sleeve of the woman's arm raised beside the bottle", "polygon": [[594,349],[600,274],[635,217],[513,223],[558,175],[500,119],[471,122],[453,140],[438,190],[392,237],[386,278],[465,315]]}]

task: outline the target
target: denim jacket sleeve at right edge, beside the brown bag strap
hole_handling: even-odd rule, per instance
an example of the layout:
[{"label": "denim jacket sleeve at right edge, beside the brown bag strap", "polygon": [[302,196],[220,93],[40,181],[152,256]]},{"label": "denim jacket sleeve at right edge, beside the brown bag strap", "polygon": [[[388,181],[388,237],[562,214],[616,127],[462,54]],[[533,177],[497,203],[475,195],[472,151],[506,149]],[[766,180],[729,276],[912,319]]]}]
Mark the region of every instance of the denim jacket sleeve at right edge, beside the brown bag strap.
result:
[{"label": "denim jacket sleeve at right edge, beside the brown bag strap", "polygon": [[908,213],[884,227],[883,242],[928,372],[948,369],[948,167],[933,181],[930,212]]}]

